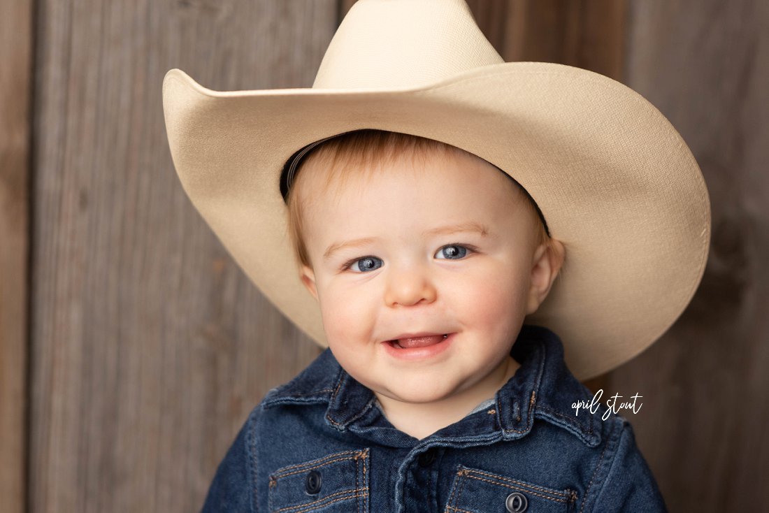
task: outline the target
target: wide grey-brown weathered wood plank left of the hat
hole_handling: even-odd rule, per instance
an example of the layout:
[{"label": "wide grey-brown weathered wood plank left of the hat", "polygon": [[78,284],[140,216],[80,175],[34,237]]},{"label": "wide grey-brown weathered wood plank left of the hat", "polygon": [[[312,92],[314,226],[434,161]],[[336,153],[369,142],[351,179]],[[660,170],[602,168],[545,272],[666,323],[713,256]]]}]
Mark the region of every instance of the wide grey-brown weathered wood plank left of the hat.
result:
[{"label": "wide grey-brown weathered wood plank left of the hat", "polygon": [[162,78],[309,86],[337,4],[38,4],[31,511],[197,511],[248,411],[319,350],[182,191]]}]

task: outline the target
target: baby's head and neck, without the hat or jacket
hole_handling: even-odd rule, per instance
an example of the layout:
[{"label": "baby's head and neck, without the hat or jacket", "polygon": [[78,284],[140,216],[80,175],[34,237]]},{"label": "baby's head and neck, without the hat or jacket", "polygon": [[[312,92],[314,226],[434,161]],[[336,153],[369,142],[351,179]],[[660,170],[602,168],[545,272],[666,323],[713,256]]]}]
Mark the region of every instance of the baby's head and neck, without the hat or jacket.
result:
[{"label": "baby's head and neck, without the hat or jacket", "polygon": [[564,259],[508,175],[392,132],[325,142],[288,197],[329,347],[396,428],[425,438],[494,397]]}]

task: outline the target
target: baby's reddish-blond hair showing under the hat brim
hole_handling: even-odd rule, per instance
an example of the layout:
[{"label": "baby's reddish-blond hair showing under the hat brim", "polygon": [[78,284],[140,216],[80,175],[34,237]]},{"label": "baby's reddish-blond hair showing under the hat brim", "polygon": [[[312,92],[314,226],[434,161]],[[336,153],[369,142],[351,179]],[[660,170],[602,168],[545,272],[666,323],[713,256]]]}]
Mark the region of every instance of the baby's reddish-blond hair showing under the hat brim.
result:
[{"label": "baby's reddish-blond hair showing under the hat brim", "polygon": [[[418,135],[402,134],[400,132],[386,132],[384,130],[357,130],[348,132],[331,138],[326,142],[316,146],[303,158],[296,170],[296,178],[291,184],[286,196],[288,205],[288,235],[291,238],[291,244],[298,262],[301,265],[310,266],[310,258],[304,240],[304,203],[306,195],[302,195],[301,168],[307,167],[308,162],[313,166],[320,165],[325,172],[325,185],[332,182],[344,182],[346,178],[354,173],[365,172],[369,175],[378,169],[382,164],[394,164],[398,162],[403,155],[411,155],[414,161],[421,160],[429,155],[448,156],[452,153],[465,152],[456,146],[445,144],[420,137]],[[474,156],[474,155],[473,155]],[[500,171],[501,172],[501,171]],[[507,175],[505,173],[505,175]],[[509,176],[509,175],[508,175]],[[512,178],[511,178],[512,179]],[[306,180],[305,180],[306,182]],[[544,225],[544,218],[534,203],[534,199],[526,190],[513,180],[516,188],[521,192],[521,196],[526,198],[524,202],[536,222],[538,234],[536,236],[537,245],[546,244],[551,241],[548,235],[548,229]]]}]

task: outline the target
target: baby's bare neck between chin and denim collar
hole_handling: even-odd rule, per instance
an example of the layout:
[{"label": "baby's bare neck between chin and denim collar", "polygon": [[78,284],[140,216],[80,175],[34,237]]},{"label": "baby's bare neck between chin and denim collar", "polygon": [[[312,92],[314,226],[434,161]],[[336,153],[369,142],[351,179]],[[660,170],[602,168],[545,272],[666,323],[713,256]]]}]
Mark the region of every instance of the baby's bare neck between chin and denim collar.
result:
[{"label": "baby's bare neck between chin and denim collar", "polygon": [[439,401],[411,403],[390,398],[375,391],[384,416],[398,430],[422,439],[454,422],[460,421],[483,401],[494,398],[497,391],[513,377],[521,365],[508,358],[494,372],[467,390]]}]

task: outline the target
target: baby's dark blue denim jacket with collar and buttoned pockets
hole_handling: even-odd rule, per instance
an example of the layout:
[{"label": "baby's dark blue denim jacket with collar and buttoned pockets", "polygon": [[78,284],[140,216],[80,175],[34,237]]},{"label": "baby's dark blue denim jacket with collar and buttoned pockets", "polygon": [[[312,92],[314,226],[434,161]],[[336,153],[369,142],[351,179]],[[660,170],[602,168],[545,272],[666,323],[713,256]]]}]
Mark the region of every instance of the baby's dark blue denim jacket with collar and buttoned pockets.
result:
[{"label": "baby's dark blue denim jacket with collar and buttoned pockets", "polygon": [[524,326],[511,355],[491,407],[418,440],[327,349],[251,411],[203,511],[667,511],[628,421],[574,415],[592,393],[558,336]]}]

